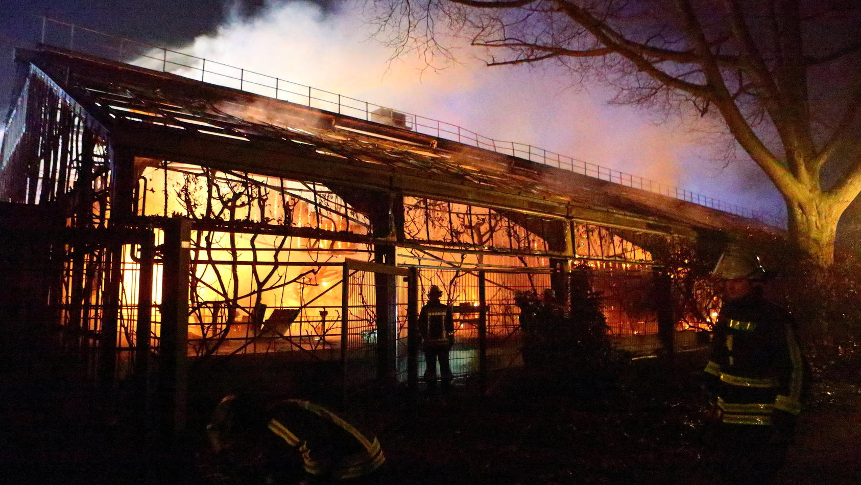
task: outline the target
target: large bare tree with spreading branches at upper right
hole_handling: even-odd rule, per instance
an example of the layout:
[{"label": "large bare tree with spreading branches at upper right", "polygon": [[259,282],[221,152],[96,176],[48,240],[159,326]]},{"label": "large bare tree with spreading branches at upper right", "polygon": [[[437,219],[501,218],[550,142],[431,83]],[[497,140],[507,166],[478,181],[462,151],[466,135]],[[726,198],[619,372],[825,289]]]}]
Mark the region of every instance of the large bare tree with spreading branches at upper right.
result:
[{"label": "large bare tree with spreading branches at upper right", "polygon": [[488,65],[555,61],[614,100],[690,106],[721,120],[784,196],[791,239],[833,264],[840,215],[861,191],[861,4],[836,0],[378,0],[397,53]]}]

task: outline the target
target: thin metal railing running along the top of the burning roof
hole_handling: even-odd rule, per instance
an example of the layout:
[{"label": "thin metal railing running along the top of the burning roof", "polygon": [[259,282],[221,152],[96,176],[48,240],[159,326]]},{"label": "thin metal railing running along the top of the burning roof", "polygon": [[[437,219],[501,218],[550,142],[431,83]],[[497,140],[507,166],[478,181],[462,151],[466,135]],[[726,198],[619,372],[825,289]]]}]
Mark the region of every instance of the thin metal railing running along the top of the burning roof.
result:
[{"label": "thin metal railing running along the top of the burning roof", "polygon": [[204,83],[218,84],[252,94],[274,97],[290,103],[302,104],[366,121],[380,121],[381,118],[391,120],[393,113],[397,113],[399,117],[403,116],[404,127],[420,134],[476,146],[635,189],[647,190],[662,196],[673,197],[761,221],[774,227],[784,227],[784,219],[779,215],[744,208],[738,204],[724,202],[714,197],[691,192],[691,190],[684,190],[666,183],[616,171],[537,146],[514,141],[494,140],[445,121],[396,111],[350,96],[319,90],[305,84],[294,83],[234,65],[226,65],[212,59],[204,59],[188,53],[154,46],[139,40],[105,34],[53,18],[40,17],[40,19],[42,44],[77,50],[81,53],[117,60],[155,71],[170,72]]}]

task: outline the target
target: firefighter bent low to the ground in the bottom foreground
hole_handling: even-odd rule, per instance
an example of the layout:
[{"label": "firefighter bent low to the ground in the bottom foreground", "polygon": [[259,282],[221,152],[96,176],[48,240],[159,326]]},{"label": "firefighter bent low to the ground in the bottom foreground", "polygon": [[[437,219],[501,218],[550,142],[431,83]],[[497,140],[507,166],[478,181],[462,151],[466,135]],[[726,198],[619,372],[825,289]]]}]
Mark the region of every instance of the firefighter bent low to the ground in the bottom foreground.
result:
[{"label": "firefighter bent low to the ground in the bottom foreground", "polygon": [[377,482],[380,442],[325,407],[288,399],[265,408],[228,395],[207,426],[213,451],[252,482]]}]

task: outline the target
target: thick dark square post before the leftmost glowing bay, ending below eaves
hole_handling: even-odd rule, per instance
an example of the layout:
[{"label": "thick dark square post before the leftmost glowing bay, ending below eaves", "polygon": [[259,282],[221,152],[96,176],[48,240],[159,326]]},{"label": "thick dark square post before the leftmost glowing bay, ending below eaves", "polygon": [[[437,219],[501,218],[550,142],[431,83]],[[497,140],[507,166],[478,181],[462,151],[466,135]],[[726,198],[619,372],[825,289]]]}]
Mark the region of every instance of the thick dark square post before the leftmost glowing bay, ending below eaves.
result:
[{"label": "thick dark square post before the leftmost glowing bay, ending below eaves", "polygon": [[168,416],[168,432],[185,426],[188,393],[189,274],[191,222],[174,218],[164,224],[162,277],[161,378],[159,395]]}]

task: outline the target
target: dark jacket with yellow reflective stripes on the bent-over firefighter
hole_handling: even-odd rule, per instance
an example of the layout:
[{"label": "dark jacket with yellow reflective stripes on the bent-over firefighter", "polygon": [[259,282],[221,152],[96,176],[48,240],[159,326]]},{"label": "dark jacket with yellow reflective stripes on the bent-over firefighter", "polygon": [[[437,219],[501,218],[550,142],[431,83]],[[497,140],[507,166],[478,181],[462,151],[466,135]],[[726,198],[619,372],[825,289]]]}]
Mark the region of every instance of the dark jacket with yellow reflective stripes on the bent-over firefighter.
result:
[{"label": "dark jacket with yellow reflective stripes on the bent-over firefighter", "polygon": [[282,401],[269,412],[270,432],[297,449],[305,470],[331,480],[365,476],[386,461],[380,442],[313,402]]}]

